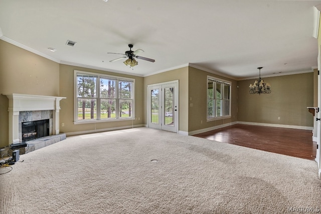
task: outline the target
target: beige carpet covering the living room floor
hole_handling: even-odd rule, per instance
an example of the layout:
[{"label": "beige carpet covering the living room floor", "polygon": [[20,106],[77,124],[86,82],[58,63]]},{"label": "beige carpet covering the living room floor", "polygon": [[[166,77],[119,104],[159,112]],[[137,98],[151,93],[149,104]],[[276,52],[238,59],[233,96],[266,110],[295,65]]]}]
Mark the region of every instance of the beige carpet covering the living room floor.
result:
[{"label": "beige carpet covering the living room floor", "polygon": [[155,129],[67,137],[20,160],[0,175],[0,213],[321,209],[314,161]]}]

